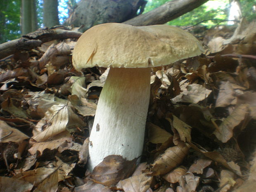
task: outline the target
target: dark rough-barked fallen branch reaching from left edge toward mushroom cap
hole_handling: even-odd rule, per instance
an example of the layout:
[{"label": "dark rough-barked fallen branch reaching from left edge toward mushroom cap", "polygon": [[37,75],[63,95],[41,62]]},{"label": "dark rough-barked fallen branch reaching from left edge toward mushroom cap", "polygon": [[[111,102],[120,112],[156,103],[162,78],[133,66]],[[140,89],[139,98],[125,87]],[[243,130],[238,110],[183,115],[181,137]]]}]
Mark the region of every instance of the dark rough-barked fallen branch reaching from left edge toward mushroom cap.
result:
[{"label": "dark rough-barked fallen branch reaching from left edge toward mushroom cap", "polygon": [[67,38],[79,38],[82,33],[67,30],[66,27],[56,27],[50,29],[40,29],[33,33],[28,33],[19,39],[11,40],[0,45],[0,59],[12,55],[16,52],[31,50],[39,47],[42,43]]}]

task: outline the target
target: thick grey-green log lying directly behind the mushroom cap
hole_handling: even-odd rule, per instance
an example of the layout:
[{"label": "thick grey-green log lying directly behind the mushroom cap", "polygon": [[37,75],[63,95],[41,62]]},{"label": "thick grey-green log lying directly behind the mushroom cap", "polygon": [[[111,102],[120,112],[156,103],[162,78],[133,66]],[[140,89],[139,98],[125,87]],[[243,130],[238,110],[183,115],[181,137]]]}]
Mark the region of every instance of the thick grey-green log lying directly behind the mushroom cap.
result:
[{"label": "thick grey-green log lying directly behind the mushroom cap", "polygon": [[65,25],[81,27],[81,31],[102,23],[121,23],[137,16],[145,0],[81,0]]}]

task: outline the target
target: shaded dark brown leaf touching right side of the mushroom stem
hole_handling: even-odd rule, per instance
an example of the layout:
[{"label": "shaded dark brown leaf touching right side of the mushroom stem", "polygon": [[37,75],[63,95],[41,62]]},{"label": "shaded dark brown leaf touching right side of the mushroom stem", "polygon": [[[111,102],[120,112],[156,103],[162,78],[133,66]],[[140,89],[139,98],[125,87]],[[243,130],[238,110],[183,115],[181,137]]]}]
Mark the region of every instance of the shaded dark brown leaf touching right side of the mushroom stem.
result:
[{"label": "shaded dark brown leaf touching right side of the mushroom stem", "polygon": [[170,137],[171,133],[154,125],[153,123],[147,123],[147,128],[149,130],[149,142],[158,144],[166,142]]}]

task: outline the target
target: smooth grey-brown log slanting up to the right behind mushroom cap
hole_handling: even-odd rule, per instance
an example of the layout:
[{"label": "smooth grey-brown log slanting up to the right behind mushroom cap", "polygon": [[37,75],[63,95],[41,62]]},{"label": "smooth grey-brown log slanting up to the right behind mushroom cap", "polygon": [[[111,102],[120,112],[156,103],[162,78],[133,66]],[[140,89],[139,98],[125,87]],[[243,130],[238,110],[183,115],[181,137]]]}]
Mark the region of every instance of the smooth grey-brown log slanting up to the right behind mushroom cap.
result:
[{"label": "smooth grey-brown log slanting up to the right behind mushroom cap", "polygon": [[192,11],[207,1],[208,0],[172,0],[152,11],[141,14],[123,23],[134,26],[165,24],[168,21]]}]

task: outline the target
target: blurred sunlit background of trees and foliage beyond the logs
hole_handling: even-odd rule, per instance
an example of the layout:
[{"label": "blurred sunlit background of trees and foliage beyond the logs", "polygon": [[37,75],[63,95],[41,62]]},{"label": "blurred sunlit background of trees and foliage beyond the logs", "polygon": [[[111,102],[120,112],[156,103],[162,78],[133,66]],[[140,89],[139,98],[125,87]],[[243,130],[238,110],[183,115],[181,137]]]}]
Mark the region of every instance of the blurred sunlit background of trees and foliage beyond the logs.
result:
[{"label": "blurred sunlit background of trees and foliage beyond the logs", "polygon": [[[84,1],[84,0],[81,0]],[[168,0],[147,0],[140,11],[148,12]],[[201,21],[207,27],[216,24],[227,24],[230,3],[234,0],[209,0],[201,7],[194,9],[181,17],[169,21],[175,26],[190,26]],[[242,17],[251,21],[256,18],[256,0],[235,0],[239,2]],[[95,1],[96,2],[96,1]],[[16,39],[21,34],[35,31],[43,26],[52,27],[63,24],[77,8],[78,0],[5,0],[0,4],[0,43]],[[96,4],[95,4],[96,5]],[[144,9],[145,8],[145,9]],[[207,19],[216,19],[208,20]],[[222,20],[217,20],[222,19]]]}]

